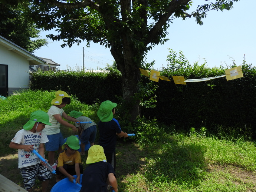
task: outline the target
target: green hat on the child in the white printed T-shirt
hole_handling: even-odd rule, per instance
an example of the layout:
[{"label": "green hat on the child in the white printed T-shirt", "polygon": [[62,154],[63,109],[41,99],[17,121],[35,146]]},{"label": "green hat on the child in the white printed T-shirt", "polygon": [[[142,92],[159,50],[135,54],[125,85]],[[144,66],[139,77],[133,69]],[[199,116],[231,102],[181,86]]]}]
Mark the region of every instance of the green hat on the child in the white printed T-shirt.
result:
[{"label": "green hat on the child in the white printed T-shirt", "polygon": [[32,129],[36,122],[44,123],[46,125],[52,125],[51,123],[49,123],[49,115],[44,111],[38,110],[31,113],[29,121],[23,126],[23,129]]}]

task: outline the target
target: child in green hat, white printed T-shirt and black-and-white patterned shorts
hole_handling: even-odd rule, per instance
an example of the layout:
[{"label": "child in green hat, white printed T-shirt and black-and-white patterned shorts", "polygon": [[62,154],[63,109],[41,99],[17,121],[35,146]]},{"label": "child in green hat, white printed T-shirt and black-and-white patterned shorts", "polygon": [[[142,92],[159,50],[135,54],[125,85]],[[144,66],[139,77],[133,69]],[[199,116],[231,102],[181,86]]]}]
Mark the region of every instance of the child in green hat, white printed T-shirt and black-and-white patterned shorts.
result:
[{"label": "child in green hat, white printed T-shirt and black-and-white patterned shorts", "polygon": [[49,123],[46,112],[38,110],[30,115],[29,121],[19,130],[12,139],[9,147],[18,149],[19,168],[23,178],[24,189],[32,191],[36,176],[42,181],[42,191],[47,191],[49,179],[52,177],[49,169],[40,163],[40,159],[32,152],[35,149],[42,157],[45,156],[43,143],[48,142],[42,130]]}]

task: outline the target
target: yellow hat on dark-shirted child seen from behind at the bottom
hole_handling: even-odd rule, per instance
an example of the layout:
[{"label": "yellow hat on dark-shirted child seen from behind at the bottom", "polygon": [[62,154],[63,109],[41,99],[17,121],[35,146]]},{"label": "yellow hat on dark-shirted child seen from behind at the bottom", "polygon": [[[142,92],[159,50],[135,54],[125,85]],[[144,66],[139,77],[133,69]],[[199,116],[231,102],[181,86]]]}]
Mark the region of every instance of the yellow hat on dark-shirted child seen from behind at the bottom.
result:
[{"label": "yellow hat on dark-shirted child seen from behind at the bottom", "polygon": [[96,163],[99,161],[106,162],[104,149],[100,145],[93,145],[88,150],[88,158],[86,160],[86,164]]}]

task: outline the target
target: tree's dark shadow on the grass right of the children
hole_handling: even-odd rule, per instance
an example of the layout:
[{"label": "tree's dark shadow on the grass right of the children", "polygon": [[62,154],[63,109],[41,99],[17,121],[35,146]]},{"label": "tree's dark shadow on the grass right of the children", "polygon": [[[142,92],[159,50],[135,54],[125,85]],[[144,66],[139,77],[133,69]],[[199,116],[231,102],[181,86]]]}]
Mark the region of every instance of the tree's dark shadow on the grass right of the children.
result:
[{"label": "tree's dark shadow on the grass right of the children", "polygon": [[139,181],[141,185],[143,182],[199,185],[206,170],[204,153],[205,147],[198,140],[191,139],[184,143],[172,136],[143,148],[133,142],[118,141],[116,175],[120,190],[124,191],[128,185],[120,178],[124,180],[137,173],[145,179]]}]

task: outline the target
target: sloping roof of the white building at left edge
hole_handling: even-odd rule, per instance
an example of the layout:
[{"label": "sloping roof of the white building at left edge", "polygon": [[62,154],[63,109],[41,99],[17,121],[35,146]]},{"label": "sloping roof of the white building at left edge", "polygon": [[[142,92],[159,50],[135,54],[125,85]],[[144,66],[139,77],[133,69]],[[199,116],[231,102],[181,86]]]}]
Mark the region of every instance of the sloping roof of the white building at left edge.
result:
[{"label": "sloping roof of the white building at left edge", "polygon": [[6,38],[0,36],[0,45],[6,47],[9,51],[13,51],[23,57],[25,57],[29,61],[29,65],[35,64],[45,64],[46,61],[40,57],[35,56],[34,54],[28,52],[17,44],[7,40]]}]

